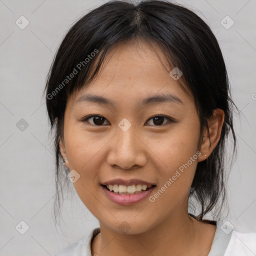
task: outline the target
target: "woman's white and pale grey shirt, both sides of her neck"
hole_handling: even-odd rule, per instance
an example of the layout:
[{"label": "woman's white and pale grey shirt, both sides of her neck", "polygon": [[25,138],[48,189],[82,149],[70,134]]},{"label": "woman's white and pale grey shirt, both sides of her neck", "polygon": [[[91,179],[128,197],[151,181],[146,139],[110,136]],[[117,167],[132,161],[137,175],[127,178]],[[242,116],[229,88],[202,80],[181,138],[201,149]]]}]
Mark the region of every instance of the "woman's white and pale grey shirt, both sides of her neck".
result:
[{"label": "woman's white and pale grey shirt, both sides of her neck", "polygon": [[[256,232],[240,233],[228,230],[216,221],[216,231],[208,256],[255,256]],[[92,256],[90,243],[100,228],[93,228],[81,240],[65,247],[53,256]]]}]

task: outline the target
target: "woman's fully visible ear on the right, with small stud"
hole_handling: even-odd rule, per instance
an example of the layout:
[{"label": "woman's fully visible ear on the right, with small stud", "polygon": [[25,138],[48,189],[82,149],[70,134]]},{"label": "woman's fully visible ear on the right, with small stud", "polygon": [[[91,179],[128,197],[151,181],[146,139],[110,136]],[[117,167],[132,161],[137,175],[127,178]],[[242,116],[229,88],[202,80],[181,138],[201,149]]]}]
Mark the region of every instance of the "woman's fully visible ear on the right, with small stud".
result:
[{"label": "woman's fully visible ear on the right, with small stud", "polygon": [[207,121],[209,132],[206,128],[203,132],[203,139],[200,146],[201,155],[198,156],[198,162],[205,160],[217,145],[224,122],[224,117],[225,114],[222,109],[216,108],[213,110],[212,116]]}]

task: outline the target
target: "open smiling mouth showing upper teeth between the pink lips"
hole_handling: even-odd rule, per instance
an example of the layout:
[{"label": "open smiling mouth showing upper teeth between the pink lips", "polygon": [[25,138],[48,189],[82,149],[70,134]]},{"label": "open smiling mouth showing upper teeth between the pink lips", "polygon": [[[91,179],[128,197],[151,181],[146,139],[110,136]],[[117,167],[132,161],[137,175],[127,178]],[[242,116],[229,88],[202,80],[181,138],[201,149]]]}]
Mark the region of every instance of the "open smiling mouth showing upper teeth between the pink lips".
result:
[{"label": "open smiling mouth showing upper teeth between the pink lips", "polygon": [[121,194],[121,195],[132,195],[132,194],[139,194],[141,192],[147,191],[153,187],[155,184],[145,185],[145,184],[132,184],[132,185],[118,185],[118,184],[109,184],[104,185],[101,184],[105,189],[114,193],[114,194]]}]

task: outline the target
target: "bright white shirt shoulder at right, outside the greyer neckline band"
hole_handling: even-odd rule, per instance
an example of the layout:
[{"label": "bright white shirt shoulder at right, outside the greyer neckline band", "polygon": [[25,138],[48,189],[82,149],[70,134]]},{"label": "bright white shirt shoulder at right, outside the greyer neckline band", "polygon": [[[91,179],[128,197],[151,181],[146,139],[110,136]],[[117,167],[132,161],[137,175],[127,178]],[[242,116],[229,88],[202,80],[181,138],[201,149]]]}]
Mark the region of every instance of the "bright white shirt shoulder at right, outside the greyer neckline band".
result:
[{"label": "bright white shirt shoulder at right, outside the greyer neckline band", "polygon": [[256,253],[256,232],[232,231],[224,256],[254,256]]}]

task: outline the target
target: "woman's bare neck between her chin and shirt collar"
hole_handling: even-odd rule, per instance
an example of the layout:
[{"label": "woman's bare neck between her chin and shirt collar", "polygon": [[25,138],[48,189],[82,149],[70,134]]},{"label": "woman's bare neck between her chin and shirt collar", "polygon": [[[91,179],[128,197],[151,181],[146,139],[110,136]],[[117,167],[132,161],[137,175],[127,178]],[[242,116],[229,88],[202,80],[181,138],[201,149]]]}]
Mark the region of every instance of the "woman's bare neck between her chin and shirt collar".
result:
[{"label": "woman's bare neck between her chin and shirt collar", "polygon": [[[206,226],[207,225],[207,226]],[[209,230],[208,225],[190,217],[176,214],[170,216],[159,225],[139,234],[123,234],[115,232],[100,223],[100,233],[91,244],[92,255],[208,255],[215,233],[211,225],[211,233],[203,235]],[[206,229],[205,229],[206,228]],[[213,228],[213,229],[212,229]],[[202,241],[203,240],[203,241]]]}]

